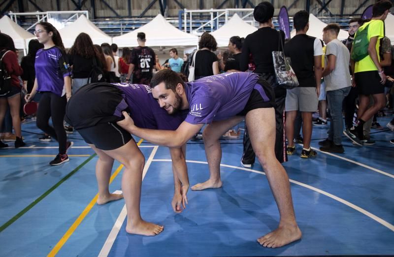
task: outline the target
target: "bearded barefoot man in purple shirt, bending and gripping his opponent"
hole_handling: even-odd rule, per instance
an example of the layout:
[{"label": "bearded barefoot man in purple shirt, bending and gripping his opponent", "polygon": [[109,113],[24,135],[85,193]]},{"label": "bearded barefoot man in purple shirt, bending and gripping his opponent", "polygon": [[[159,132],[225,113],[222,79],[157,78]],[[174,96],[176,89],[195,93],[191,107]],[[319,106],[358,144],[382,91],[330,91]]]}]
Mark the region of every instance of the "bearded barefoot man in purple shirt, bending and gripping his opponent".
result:
[{"label": "bearded barefoot man in purple shirt, bending and gripping his opponent", "polygon": [[219,138],[245,119],[253,149],[267,175],[280,213],[277,229],[258,239],[264,247],[281,247],[301,238],[296,223],[289,177],[275,158],[275,96],[258,75],[246,72],[224,73],[184,83],[171,70],[161,70],[151,80],[153,96],[169,114],[189,109],[185,121],[174,131],[139,128],[131,117],[117,122],[130,133],[168,147],[185,144],[204,124],[205,154],[210,177],[192,190],[222,187]]}]

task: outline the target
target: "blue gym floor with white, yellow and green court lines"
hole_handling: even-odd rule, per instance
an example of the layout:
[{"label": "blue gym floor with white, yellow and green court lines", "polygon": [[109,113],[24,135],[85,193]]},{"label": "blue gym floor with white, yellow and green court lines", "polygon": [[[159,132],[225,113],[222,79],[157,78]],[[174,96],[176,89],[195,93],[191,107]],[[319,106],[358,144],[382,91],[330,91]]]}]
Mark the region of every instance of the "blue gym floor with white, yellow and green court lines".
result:
[{"label": "blue gym floor with white, yellow and green court lines", "polygon": [[[380,118],[382,126],[391,118]],[[243,128],[243,125],[241,125]],[[327,137],[314,127],[312,147]],[[221,189],[189,191],[189,205],[176,214],[167,148],[142,141],[146,158],[141,214],[164,225],[155,237],[127,234],[124,200],[95,204],[97,157],[78,133],[70,161],[48,163],[57,143],[39,142],[34,121],[23,124],[27,147],[0,150],[0,256],[322,256],[394,254],[394,133],[372,129],[372,146],[344,138],[344,154],[318,152],[314,159],[289,157],[301,240],[267,249],[256,239],[278,225],[279,214],[260,164],[240,166],[242,139],[222,140]],[[138,138],[136,138],[138,142]],[[13,145],[13,142],[8,142]],[[202,141],[190,141],[191,186],[208,178]],[[114,164],[111,192],[121,190]],[[119,171],[116,173],[115,170]]]}]

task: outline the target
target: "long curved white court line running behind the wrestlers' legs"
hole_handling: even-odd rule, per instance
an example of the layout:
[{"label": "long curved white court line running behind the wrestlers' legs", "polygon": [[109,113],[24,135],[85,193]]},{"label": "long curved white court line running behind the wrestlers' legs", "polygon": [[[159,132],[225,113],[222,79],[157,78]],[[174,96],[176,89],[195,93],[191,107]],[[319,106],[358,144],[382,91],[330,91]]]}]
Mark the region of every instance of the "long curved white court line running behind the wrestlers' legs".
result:
[{"label": "long curved white court line running behind the wrestlers' legs", "polygon": [[[152,160],[152,161],[171,161],[171,160],[168,160],[168,159],[161,159],[161,160]],[[206,162],[206,161],[188,161],[188,160],[187,160],[186,162],[208,164],[208,162]],[[254,173],[259,173],[259,174],[265,175],[265,173],[264,173],[263,171],[258,171],[258,170],[254,170],[254,169],[248,169],[248,168],[243,168],[243,167],[237,167],[237,166],[232,166],[232,165],[227,165],[227,164],[220,164],[220,166],[228,167],[228,168],[234,168],[234,169],[241,169],[241,170],[246,170],[246,171],[250,171],[250,172],[254,172]],[[293,184],[296,184],[296,185],[298,185],[298,186],[301,186],[301,187],[304,187],[304,188],[313,190],[313,191],[315,191],[315,192],[317,192],[317,193],[324,194],[324,195],[326,195],[326,196],[328,196],[328,197],[330,197],[330,198],[332,198],[332,199],[334,199],[334,200],[336,200],[336,201],[338,201],[338,202],[340,202],[340,203],[343,203],[343,204],[349,206],[349,207],[352,208],[352,209],[355,209],[355,210],[358,211],[358,212],[361,212],[361,213],[364,214],[365,216],[371,218],[372,220],[374,220],[374,221],[376,221],[376,222],[378,222],[378,223],[384,225],[385,227],[389,228],[390,230],[394,231],[394,225],[392,225],[392,224],[388,223],[387,221],[385,221],[385,220],[379,218],[378,216],[376,216],[376,215],[374,215],[374,214],[372,214],[372,213],[370,213],[370,212],[368,212],[368,211],[362,209],[361,207],[359,207],[359,206],[357,206],[357,205],[354,205],[354,204],[351,203],[351,202],[348,202],[348,201],[346,201],[346,200],[344,200],[344,199],[342,199],[342,198],[340,198],[340,197],[338,197],[338,196],[335,196],[335,195],[333,195],[333,194],[331,194],[331,193],[328,193],[328,192],[323,191],[323,190],[320,190],[320,189],[318,189],[318,188],[315,188],[315,187],[309,186],[309,185],[307,185],[307,184],[298,182],[298,181],[293,180],[293,179],[290,179],[290,182],[293,183]]]}]

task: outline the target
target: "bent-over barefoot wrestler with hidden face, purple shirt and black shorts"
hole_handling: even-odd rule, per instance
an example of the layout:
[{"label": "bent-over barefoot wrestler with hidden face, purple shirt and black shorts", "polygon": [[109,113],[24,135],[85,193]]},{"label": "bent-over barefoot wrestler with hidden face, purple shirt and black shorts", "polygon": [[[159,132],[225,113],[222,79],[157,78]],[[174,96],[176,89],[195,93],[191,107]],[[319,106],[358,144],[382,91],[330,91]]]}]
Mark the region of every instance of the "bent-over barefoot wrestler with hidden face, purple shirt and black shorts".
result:
[{"label": "bent-over barefoot wrestler with hidden face, purple shirt and black shorts", "polygon": [[[152,96],[149,86],[126,83],[92,83],[79,89],[68,101],[65,120],[75,128],[97,153],[96,176],[99,186],[98,204],[124,196],[128,213],[126,231],[132,234],[156,235],[163,226],[142,220],[139,210],[142,171],[145,158],[131,134],[119,127],[122,111],[127,110],[141,128],[174,130],[187,112],[168,115]],[[189,178],[185,161],[186,144],[170,148],[175,193],[171,202],[174,212],[186,208]],[[114,160],[125,166],[122,194],[108,189]]]}]

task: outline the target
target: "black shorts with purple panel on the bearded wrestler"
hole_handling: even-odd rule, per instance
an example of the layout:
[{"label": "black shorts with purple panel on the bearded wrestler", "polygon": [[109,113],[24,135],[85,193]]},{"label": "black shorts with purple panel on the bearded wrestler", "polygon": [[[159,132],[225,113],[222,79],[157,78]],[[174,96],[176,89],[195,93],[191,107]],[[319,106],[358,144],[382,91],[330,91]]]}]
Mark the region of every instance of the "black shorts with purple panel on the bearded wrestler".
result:
[{"label": "black shorts with purple panel on the bearded wrestler", "polygon": [[266,80],[260,78],[256,83],[256,87],[252,90],[244,109],[237,116],[246,116],[249,111],[258,108],[275,107],[275,93],[273,88]]}]

